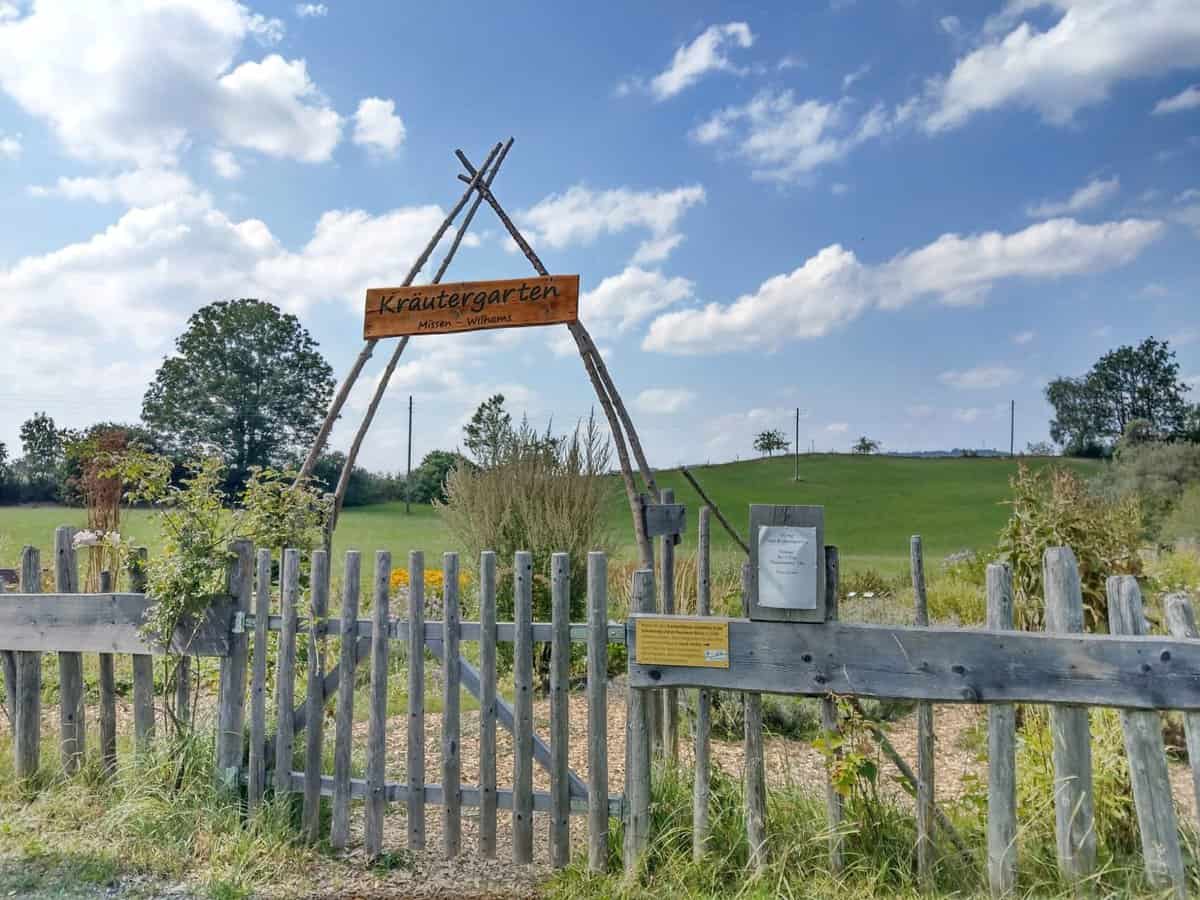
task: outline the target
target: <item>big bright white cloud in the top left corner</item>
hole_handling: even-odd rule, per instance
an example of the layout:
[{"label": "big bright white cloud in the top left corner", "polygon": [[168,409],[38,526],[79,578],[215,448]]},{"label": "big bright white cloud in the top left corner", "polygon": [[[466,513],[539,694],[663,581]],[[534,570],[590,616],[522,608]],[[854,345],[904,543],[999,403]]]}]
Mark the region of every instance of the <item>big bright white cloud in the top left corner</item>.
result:
[{"label": "big bright white cloud in the top left corner", "polygon": [[210,142],[320,162],[341,119],[305,61],[234,67],[282,29],[234,0],[37,4],[0,24],[0,88],[80,160],[169,167]]}]

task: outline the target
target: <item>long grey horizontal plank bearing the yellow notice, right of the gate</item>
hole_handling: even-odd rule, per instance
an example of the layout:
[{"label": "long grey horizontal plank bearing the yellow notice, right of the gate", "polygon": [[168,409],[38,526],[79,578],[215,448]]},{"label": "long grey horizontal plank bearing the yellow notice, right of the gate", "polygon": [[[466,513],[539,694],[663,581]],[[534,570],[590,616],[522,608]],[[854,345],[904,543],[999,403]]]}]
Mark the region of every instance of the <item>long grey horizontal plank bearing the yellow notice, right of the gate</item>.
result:
[{"label": "long grey horizontal plank bearing the yellow notice, right of the gate", "polygon": [[631,684],[937,703],[1200,709],[1200,643],[1194,642],[724,620],[730,625],[730,668],[638,665],[630,629]]}]

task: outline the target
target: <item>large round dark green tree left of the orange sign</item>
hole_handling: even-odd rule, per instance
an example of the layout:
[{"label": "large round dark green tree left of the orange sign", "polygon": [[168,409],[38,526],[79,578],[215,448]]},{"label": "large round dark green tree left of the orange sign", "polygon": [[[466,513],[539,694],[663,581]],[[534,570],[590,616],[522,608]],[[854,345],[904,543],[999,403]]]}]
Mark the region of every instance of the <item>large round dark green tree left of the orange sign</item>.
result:
[{"label": "large round dark green tree left of the orange sign", "polygon": [[170,452],[218,454],[235,491],[253,467],[286,467],[311,445],[334,372],[295,316],[252,299],[210,304],[175,349],[142,403]]}]

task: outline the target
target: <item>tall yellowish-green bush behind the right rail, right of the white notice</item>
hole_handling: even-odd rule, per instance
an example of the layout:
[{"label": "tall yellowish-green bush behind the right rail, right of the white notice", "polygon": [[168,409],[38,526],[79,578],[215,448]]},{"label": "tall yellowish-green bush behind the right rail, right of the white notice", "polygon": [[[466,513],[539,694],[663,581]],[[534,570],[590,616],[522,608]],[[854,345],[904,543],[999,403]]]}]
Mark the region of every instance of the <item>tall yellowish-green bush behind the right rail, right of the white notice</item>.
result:
[{"label": "tall yellowish-green bush behind the right rail, right of the white notice", "polygon": [[1012,486],[1013,511],[1000,536],[1000,554],[1013,569],[1016,626],[1043,629],[1042,559],[1050,547],[1070,547],[1079,562],[1088,624],[1108,632],[1105,578],[1141,574],[1138,498],[1102,497],[1069,469],[1034,472],[1024,463]]}]

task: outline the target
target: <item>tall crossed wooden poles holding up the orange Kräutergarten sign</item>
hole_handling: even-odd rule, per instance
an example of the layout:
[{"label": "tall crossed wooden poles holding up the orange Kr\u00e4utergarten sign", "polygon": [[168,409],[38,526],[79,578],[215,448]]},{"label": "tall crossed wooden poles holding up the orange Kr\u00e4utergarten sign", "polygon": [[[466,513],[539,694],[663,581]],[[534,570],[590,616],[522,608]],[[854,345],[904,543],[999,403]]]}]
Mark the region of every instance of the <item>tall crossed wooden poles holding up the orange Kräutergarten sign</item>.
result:
[{"label": "tall crossed wooden poles holding up the orange Kr\u00e4utergarten sign", "polygon": [[[521,251],[524,253],[530,265],[533,265],[534,271],[541,276],[550,275],[536,252],[534,252],[533,247],[524,239],[524,235],[521,234],[521,230],[509,217],[508,212],[504,211],[504,208],[496,198],[496,194],[492,193],[492,184],[494,182],[496,175],[499,172],[500,166],[504,163],[511,146],[512,138],[509,138],[503,144],[496,144],[484,160],[484,164],[478,169],[470,163],[467,155],[462,150],[455,150],[455,156],[458,157],[458,161],[466,169],[466,174],[460,174],[458,178],[467,184],[467,190],[458,199],[458,203],[456,203],[446,215],[442,226],[437,229],[437,232],[434,232],[430,242],[425,246],[425,250],[413,263],[408,276],[404,278],[406,287],[412,284],[420,274],[421,269],[425,268],[430,256],[442,241],[443,236],[445,236],[450,226],[454,224],[458,214],[462,212],[468,202],[470,202],[472,194],[474,194],[474,202],[470,204],[470,209],[463,218],[462,224],[458,226],[454,242],[450,245],[450,250],[446,252],[446,256],[442,260],[442,265],[438,268],[437,275],[433,276],[433,281],[431,283],[437,284],[442,281],[443,275],[445,275],[446,269],[450,266],[450,262],[458,251],[458,246],[462,244],[462,239],[466,235],[467,229],[470,227],[470,223],[475,217],[475,212],[484,202],[486,202],[496,212],[509,235],[516,245],[521,247]],[[592,386],[596,392],[601,408],[604,409],[605,418],[608,421],[608,430],[612,432],[613,444],[617,449],[617,458],[620,463],[622,479],[625,485],[625,496],[629,500],[630,514],[634,518],[634,533],[637,538],[637,547],[641,556],[642,568],[653,570],[654,553],[650,546],[650,540],[646,533],[646,499],[637,488],[637,481],[634,476],[634,466],[630,460],[630,450],[632,450],[634,461],[637,463],[646,493],[650,498],[652,503],[658,500],[659,493],[658,485],[654,480],[654,472],[646,461],[646,452],[642,450],[642,443],[637,438],[637,430],[634,427],[634,421],[629,415],[629,410],[625,408],[625,404],[620,398],[620,394],[617,391],[617,385],[613,382],[612,376],[608,373],[608,367],[605,365],[604,358],[600,355],[600,350],[592,340],[592,335],[588,334],[583,323],[577,319],[569,323],[568,329],[571,332],[571,337],[575,338],[575,344],[580,350],[581,359],[583,360],[583,367],[588,373],[588,380],[592,382]],[[362,416],[362,421],[355,432],[350,449],[346,455],[346,464],[342,468],[341,478],[338,479],[337,487],[334,492],[334,505],[326,523],[326,546],[332,542],[334,529],[337,527],[337,518],[341,515],[342,504],[346,500],[346,492],[349,487],[350,475],[354,472],[359,451],[362,449],[362,442],[366,439],[367,432],[371,430],[371,425],[374,421],[374,416],[383,401],[383,396],[388,391],[388,385],[396,371],[400,358],[408,347],[408,340],[409,338],[407,336],[401,338],[396,344],[396,348],[392,350],[391,358],[388,360],[388,365],[376,385],[374,394],[371,397],[367,410]],[[317,432],[317,437],[313,440],[312,449],[308,451],[308,456],[305,458],[304,466],[300,469],[300,479],[312,476],[312,473],[317,467],[317,460],[329,442],[329,434],[334,428],[334,422],[336,422],[338,416],[341,416],[346,401],[349,398],[350,390],[362,374],[362,370],[373,355],[378,340],[368,340],[364,344],[362,350],[355,359],[349,373],[338,388],[337,394],[334,396],[334,401],[325,415],[325,421],[322,422],[320,430]]]}]

